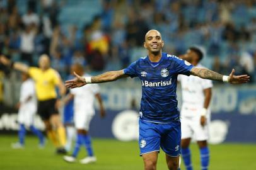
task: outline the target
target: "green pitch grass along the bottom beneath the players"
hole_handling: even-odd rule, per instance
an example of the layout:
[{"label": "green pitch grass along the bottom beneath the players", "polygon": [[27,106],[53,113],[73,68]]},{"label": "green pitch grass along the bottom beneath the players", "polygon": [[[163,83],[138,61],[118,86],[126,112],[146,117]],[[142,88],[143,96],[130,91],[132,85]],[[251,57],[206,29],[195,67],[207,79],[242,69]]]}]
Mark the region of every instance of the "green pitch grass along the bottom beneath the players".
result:
[{"label": "green pitch grass along the bottom beneath the players", "polygon": [[[15,135],[0,135],[0,169],[1,170],[137,170],[143,169],[143,161],[139,157],[137,142],[119,142],[111,139],[93,139],[93,147],[98,161],[95,164],[69,164],[62,156],[54,153],[54,147],[47,142],[45,149],[38,149],[37,139],[26,137],[25,149],[11,149]],[[194,169],[200,169],[199,150],[191,145]],[[221,144],[210,145],[212,170],[256,169],[255,144]],[[84,148],[79,152],[78,160],[85,156]],[[167,169],[165,155],[159,155],[158,169]],[[182,170],[184,167],[182,165]]]}]

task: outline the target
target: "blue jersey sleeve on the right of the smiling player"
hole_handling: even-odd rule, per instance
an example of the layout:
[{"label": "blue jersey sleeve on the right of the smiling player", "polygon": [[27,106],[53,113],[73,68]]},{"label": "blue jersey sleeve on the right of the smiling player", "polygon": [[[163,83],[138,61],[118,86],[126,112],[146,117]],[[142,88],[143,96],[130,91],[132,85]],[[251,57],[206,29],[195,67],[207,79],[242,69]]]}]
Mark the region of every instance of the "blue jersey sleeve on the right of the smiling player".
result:
[{"label": "blue jersey sleeve on the right of the smiling player", "polygon": [[194,67],[192,64],[178,57],[173,57],[173,62],[177,74],[190,76],[190,70]]}]

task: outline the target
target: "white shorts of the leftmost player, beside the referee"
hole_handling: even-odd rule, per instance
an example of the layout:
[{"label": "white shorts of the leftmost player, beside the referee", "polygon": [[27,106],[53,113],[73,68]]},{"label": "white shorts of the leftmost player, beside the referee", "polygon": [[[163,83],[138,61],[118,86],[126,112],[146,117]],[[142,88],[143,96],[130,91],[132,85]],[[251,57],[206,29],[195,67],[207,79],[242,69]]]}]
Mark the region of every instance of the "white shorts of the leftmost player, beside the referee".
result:
[{"label": "white shorts of the leftmost player, beside the referee", "polygon": [[35,112],[35,108],[21,106],[18,111],[18,122],[24,124],[26,127],[30,127],[33,125]]}]

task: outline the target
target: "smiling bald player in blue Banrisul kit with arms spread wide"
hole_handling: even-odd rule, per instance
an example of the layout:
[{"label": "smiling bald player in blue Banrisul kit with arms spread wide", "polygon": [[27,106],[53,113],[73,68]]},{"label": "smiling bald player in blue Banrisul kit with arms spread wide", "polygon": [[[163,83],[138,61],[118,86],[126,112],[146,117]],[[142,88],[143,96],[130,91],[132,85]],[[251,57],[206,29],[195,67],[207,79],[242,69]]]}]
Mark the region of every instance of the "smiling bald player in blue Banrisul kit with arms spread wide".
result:
[{"label": "smiling bald player in blue Banrisul kit with arms spread wide", "polygon": [[166,154],[168,169],[178,169],[180,156],[180,113],[177,108],[176,88],[178,74],[193,75],[203,79],[240,84],[249,76],[223,76],[209,69],[197,68],[174,55],[161,52],[164,42],[157,30],[145,35],[144,47],[148,56],[141,57],[120,71],[105,72],[99,76],[81,77],[66,81],[67,88],[79,88],[90,83],[115,81],[124,77],[139,77],[142,86],[139,118],[139,146],[144,169],[156,169],[158,152]]}]

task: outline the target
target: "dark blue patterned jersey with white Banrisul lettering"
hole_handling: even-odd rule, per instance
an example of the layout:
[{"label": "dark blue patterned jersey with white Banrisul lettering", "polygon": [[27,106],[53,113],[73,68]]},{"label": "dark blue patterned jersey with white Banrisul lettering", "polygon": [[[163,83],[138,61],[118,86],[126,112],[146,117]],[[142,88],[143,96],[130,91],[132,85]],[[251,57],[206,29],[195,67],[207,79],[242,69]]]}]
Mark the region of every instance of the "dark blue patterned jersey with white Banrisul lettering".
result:
[{"label": "dark blue patterned jersey with white Banrisul lettering", "polygon": [[176,95],[178,74],[190,75],[192,65],[175,55],[162,53],[158,63],[141,57],[124,69],[130,77],[141,79],[141,119],[170,123],[180,116]]}]

